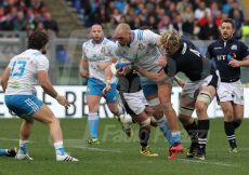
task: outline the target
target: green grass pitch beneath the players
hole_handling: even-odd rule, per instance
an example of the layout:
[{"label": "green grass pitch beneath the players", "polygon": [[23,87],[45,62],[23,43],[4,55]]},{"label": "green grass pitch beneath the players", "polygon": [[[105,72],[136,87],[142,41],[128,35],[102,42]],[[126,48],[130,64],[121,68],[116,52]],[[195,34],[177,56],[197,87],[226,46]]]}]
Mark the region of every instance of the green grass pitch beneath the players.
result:
[{"label": "green grass pitch beneath the players", "polygon": [[[0,158],[0,175],[248,175],[249,174],[249,120],[245,120],[236,136],[237,154],[228,153],[228,144],[224,134],[223,120],[212,119],[207,146],[207,160],[198,162],[180,154],[178,160],[169,161],[168,144],[159,129],[153,129],[149,146],[159,157],[140,156],[137,126],[133,125],[134,135],[127,138],[115,119],[101,119],[101,145],[88,146],[86,119],[62,119],[66,150],[80,162],[56,162],[54,149],[49,138],[47,126],[35,122],[29,154],[34,161],[17,161],[13,158]],[[0,146],[18,146],[19,119],[0,120]],[[182,131],[183,145],[189,142]]]}]

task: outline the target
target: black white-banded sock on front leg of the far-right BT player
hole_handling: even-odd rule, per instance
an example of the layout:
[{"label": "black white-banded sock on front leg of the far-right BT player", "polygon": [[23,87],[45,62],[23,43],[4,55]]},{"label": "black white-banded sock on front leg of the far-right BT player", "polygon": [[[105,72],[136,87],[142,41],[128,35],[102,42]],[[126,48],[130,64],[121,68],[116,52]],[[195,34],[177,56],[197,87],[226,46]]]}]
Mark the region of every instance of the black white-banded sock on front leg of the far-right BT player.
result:
[{"label": "black white-banded sock on front leg of the far-right BT player", "polygon": [[231,148],[236,148],[237,145],[236,145],[236,137],[235,137],[234,122],[224,121],[224,129],[225,129],[226,138],[230,143]]}]

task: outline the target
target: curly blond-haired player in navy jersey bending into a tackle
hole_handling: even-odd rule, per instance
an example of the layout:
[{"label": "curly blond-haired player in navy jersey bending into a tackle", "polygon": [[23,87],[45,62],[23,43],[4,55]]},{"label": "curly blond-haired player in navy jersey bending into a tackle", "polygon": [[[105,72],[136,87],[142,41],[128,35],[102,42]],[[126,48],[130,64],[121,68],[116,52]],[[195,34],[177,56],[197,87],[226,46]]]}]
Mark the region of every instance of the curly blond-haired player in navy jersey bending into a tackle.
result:
[{"label": "curly blond-haired player in navy jersey bending into a tackle", "polygon": [[[179,119],[192,140],[187,157],[205,160],[209,131],[207,110],[215,96],[219,75],[209,59],[204,57],[192,42],[183,40],[176,30],[165,32],[159,43],[166,50],[168,59],[161,58],[157,64],[165,66],[166,73],[147,71],[140,67],[136,67],[136,70],[157,82],[163,82],[180,71],[189,79],[185,82],[180,97]],[[198,123],[192,117],[195,109]]]}]

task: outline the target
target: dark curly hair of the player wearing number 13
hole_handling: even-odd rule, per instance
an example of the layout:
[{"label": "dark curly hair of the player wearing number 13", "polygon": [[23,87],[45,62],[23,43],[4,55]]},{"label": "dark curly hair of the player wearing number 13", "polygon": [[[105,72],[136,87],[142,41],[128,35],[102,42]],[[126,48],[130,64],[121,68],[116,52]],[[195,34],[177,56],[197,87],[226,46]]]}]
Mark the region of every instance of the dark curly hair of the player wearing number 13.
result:
[{"label": "dark curly hair of the player wearing number 13", "polygon": [[49,36],[41,30],[36,30],[28,37],[28,49],[40,50],[48,42]]}]

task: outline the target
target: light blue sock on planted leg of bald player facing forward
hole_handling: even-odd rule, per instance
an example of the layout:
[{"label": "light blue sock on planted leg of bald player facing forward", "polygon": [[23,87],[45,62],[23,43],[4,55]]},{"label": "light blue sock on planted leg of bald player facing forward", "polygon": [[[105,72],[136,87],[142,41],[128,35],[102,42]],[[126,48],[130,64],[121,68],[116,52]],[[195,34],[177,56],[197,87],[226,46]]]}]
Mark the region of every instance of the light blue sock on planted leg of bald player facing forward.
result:
[{"label": "light blue sock on planted leg of bald player facing forward", "polygon": [[89,132],[93,138],[97,138],[99,115],[96,112],[88,115]]}]

